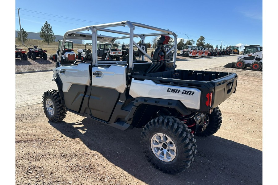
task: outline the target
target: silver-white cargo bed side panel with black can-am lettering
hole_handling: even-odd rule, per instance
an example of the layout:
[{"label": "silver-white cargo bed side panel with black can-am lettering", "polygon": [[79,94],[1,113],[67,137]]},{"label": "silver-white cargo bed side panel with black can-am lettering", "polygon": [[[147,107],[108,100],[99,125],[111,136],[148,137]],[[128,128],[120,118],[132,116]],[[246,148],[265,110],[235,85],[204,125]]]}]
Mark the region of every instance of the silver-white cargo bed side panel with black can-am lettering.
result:
[{"label": "silver-white cargo bed side panel with black can-am lettering", "polygon": [[[179,93],[171,92],[175,90]],[[194,92],[194,94],[182,94],[182,92],[184,91]],[[169,100],[179,100],[187,108],[200,109],[201,91],[196,88],[185,88],[172,85],[156,84],[152,80],[141,81],[132,79],[129,94],[133,98],[151,97]]]}]

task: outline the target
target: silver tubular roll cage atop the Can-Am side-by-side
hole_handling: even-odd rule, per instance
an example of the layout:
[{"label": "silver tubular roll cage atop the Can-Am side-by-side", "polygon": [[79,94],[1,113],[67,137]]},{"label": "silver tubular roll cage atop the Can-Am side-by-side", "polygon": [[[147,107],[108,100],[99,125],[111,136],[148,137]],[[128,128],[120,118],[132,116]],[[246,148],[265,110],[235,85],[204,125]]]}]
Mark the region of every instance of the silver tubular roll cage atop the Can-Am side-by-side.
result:
[{"label": "silver tubular roll cage atop the Can-Am side-by-side", "polygon": [[[110,27],[125,27],[125,26],[127,26],[129,28],[129,32],[107,29],[107,28],[110,28]],[[137,34],[137,33],[134,33],[134,29],[136,27],[141,27],[141,28],[145,28],[145,29],[148,29],[148,30],[152,30],[152,31],[158,31],[158,32]],[[87,33],[84,33],[82,31],[91,31],[91,33],[87,34]],[[123,36],[112,37],[112,36],[106,36],[106,35],[98,35],[97,31],[115,33],[115,34],[120,34],[120,35],[123,35]],[[114,45],[114,42],[117,39],[128,39],[129,38],[129,46],[134,45],[147,58],[152,60],[151,56],[148,55],[133,40],[133,38],[134,37],[137,37],[137,38],[139,37],[139,38],[141,38],[141,43],[145,43],[145,37],[147,37],[147,36],[158,36],[158,35],[172,35],[174,37],[174,45],[173,45],[173,47],[170,48],[170,50],[167,51],[167,55],[171,51],[173,51],[173,50],[175,51],[174,52],[174,57],[173,57],[173,67],[175,68],[175,62],[176,62],[176,56],[177,56],[177,35],[173,31],[165,30],[165,29],[162,29],[162,28],[153,27],[153,26],[149,26],[149,25],[145,25],[145,24],[141,24],[141,23],[135,23],[135,22],[130,22],[130,21],[121,21],[121,22],[115,22],[115,23],[107,23],[107,24],[98,24],[98,25],[86,26],[86,27],[81,27],[81,28],[69,30],[65,33],[61,45],[64,47],[65,41],[67,39],[91,40],[92,41],[92,61],[91,61],[91,64],[93,66],[98,66],[98,57],[97,57],[97,43],[98,42],[109,42],[109,43],[111,43],[110,48],[107,52],[107,55],[106,55],[105,59],[108,59],[108,54],[110,53],[110,51],[111,51],[111,49]],[[129,53],[133,53],[133,47],[129,47]],[[62,55],[62,53],[59,52],[57,61],[61,60],[61,55]],[[142,56],[142,60],[144,60],[144,56]],[[133,65],[133,55],[129,55],[128,68],[132,68],[132,65]],[[59,66],[61,66],[61,64],[59,62],[57,62],[57,66],[59,67]]]}]

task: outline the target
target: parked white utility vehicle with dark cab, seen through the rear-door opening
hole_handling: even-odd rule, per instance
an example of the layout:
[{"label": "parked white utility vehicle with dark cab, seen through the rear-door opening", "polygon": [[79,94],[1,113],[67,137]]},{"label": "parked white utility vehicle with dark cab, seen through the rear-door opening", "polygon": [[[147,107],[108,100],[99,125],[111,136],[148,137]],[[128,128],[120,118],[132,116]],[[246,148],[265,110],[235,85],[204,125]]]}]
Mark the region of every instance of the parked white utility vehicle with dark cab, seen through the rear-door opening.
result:
[{"label": "parked white utility vehicle with dark cab, seen through the rear-door opening", "polygon": [[112,45],[112,49],[110,49],[110,53],[107,58],[107,53],[110,48],[111,43],[103,43],[99,42],[97,44],[98,52],[97,55],[103,59],[109,59],[109,60],[116,60],[120,61],[120,56],[122,55],[122,51],[117,50],[115,45]]}]

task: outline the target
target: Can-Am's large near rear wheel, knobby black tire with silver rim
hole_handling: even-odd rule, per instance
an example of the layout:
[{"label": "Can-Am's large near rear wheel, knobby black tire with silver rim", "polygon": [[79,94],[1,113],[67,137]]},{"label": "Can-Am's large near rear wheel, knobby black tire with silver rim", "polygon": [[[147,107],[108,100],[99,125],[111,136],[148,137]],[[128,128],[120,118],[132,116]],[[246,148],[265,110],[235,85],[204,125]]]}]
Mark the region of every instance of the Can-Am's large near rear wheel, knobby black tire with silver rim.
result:
[{"label": "Can-Am's large near rear wheel, knobby black tire with silver rim", "polygon": [[179,119],[160,116],[151,120],[141,133],[147,160],[164,173],[178,174],[187,169],[196,155],[196,140]]}]

